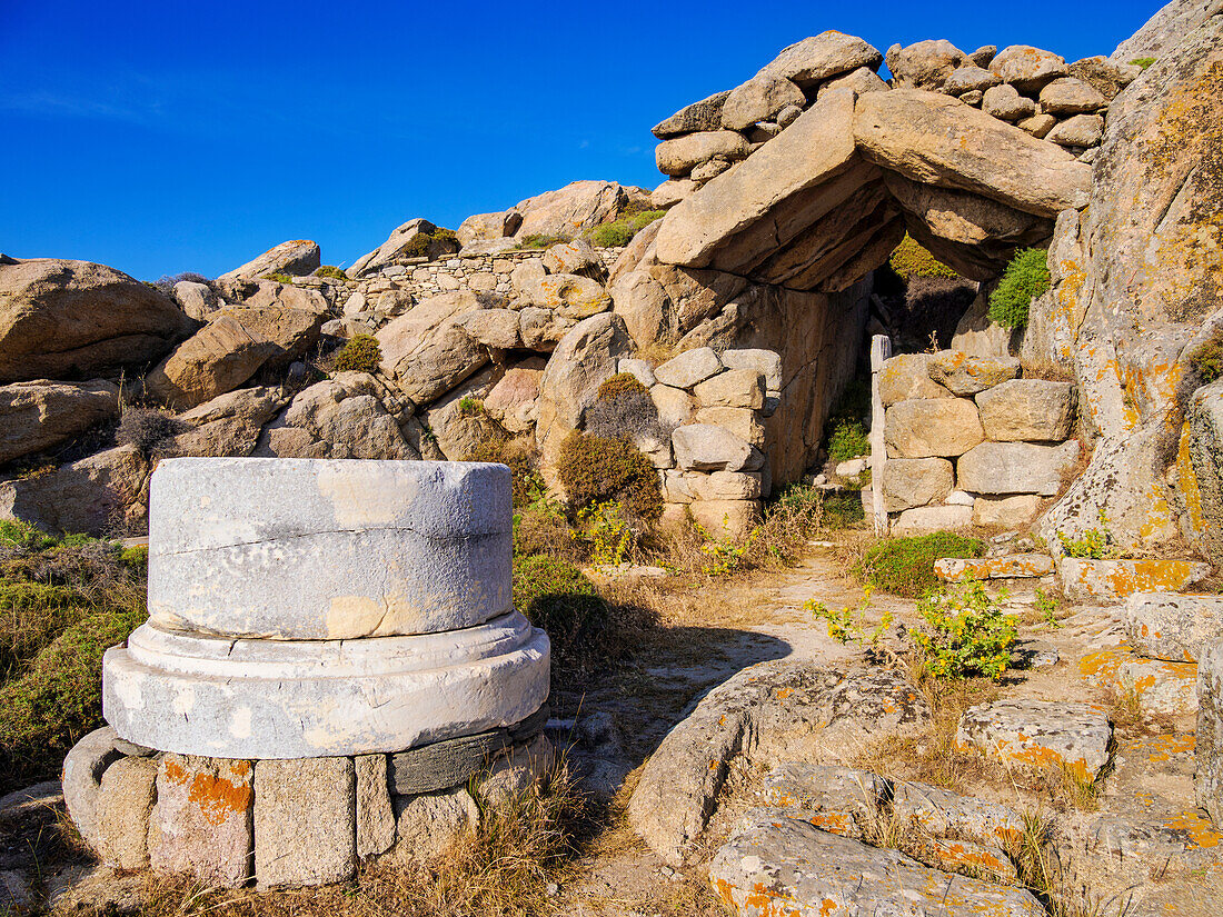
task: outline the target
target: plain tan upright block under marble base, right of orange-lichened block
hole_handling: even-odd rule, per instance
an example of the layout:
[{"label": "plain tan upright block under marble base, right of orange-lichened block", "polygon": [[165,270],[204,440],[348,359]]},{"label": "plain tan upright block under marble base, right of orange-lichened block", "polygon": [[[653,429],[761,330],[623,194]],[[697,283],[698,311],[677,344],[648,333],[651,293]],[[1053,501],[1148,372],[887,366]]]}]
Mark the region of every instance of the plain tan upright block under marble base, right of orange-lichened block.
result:
[{"label": "plain tan upright block under marble base, right of orange-lichened block", "polygon": [[260,888],[325,885],[357,869],[350,758],[254,767],[254,875]]}]

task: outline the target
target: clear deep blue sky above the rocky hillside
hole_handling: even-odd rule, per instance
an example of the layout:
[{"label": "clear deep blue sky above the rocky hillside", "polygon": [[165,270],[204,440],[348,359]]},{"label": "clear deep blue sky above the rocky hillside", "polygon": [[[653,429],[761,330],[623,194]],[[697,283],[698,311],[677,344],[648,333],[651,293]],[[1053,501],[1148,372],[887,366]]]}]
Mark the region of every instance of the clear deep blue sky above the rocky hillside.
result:
[{"label": "clear deep blue sky above the rocky hillside", "polygon": [[351,264],[575,179],[653,187],[649,128],[826,28],[1109,54],[1158,0],[0,0],[0,252],[214,276]]}]

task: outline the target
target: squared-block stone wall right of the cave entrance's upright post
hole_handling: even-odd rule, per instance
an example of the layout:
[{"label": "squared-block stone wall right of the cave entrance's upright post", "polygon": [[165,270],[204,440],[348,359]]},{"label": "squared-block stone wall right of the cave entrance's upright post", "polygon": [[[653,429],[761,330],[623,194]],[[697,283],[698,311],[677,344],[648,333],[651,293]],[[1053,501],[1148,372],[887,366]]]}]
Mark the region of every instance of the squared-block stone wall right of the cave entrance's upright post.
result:
[{"label": "squared-block stone wall right of the cave entrance's upright post", "polygon": [[1070,383],[960,351],[892,357],[872,380],[872,479],[895,534],[1031,522],[1079,462]]}]

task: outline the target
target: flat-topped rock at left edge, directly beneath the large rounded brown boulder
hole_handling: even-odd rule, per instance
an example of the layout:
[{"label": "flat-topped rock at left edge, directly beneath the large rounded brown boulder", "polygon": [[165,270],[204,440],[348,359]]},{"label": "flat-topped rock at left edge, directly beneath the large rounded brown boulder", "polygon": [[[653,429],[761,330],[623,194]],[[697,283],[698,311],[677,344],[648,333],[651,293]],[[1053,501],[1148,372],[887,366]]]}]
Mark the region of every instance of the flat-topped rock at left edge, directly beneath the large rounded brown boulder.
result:
[{"label": "flat-topped rock at left edge, directly beneath the large rounded brown boulder", "polygon": [[0,386],[0,463],[57,446],[119,416],[119,386],[48,379]]}]

